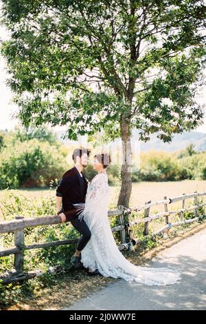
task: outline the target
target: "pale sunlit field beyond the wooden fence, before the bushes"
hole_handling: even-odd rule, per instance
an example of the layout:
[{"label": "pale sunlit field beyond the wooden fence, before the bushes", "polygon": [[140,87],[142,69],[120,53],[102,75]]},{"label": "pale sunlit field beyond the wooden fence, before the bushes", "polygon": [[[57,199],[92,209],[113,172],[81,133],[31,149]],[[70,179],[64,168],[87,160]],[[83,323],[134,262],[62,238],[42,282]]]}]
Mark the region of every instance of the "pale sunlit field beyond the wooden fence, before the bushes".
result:
[{"label": "pale sunlit field beyond the wooden fence, before the bushes", "polygon": [[[201,180],[184,180],[184,181],[165,181],[165,182],[148,182],[142,181],[139,183],[133,183],[133,190],[130,198],[130,207],[142,206],[146,201],[159,201],[163,200],[164,196],[168,198],[173,196],[180,196],[183,193],[192,193],[194,191],[203,192],[206,190],[206,181]],[[16,190],[14,190],[15,192]],[[20,194],[26,196],[28,198],[41,198],[47,196],[48,194],[55,196],[55,189],[49,191],[49,189],[39,189],[39,188],[31,188],[31,189],[21,189],[18,190]],[[111,186],[111,199],[110,204],[116,205],[119,194],[119,188],[115,186]],[[1,198],[3,198],[3,190],[0,190],[0,202]],[[192,204],[193,199],[187,199],[185,203],[185,207],[187,205]],[[181,207],[181,201],[178,203],[174,203],[172,205],[168,205],[169,210],[176,210]],[[164,206],[158,205],[150,208],[150,214],[155,214],[157,212],[164,212]],[[141,216],[141,214],[137,214],[137,216]],[[1,219],[1,213],[0,213]],[[179,216],[170,216],[170,221],[178,221]],[[164,219],[159,219],[155,222],[150,223],[150,227],[152,231],[159,230],[164,225]]]}]

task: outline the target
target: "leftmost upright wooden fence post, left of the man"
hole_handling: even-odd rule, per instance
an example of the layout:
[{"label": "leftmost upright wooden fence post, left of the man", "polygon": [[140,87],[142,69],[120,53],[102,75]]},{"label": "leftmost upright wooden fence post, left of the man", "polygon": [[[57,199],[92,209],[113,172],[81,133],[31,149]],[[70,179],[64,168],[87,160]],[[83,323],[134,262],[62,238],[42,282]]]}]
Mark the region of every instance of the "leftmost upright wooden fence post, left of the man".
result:
[{"label": "leftmost upright wooden fence post, left of the man", "polygon": [[[15,219],[24,219],[24,217],[16,216]],[[21,250],[14,254],[14,268],[16,272],[23,273],[24,230],[16,230],[14,232],[14,245]]]}]

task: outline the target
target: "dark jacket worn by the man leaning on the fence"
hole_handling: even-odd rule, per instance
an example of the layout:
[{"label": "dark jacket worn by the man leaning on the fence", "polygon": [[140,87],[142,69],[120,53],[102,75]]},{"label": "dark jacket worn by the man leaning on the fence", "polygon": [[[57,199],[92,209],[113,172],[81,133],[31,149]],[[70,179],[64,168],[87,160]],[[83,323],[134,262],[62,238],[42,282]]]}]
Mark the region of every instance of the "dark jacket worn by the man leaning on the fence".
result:
[{"label": "dark jacket worn by the man leaning on the fence", "polygon": [[88,181],[83,173],[82,176],[80,176],[77,168],[73,167],[63,174],[58,184],[56,196],[62,197],[62,212],[65,214],[67,221],[78,218],[72,203],[85,203]]}]

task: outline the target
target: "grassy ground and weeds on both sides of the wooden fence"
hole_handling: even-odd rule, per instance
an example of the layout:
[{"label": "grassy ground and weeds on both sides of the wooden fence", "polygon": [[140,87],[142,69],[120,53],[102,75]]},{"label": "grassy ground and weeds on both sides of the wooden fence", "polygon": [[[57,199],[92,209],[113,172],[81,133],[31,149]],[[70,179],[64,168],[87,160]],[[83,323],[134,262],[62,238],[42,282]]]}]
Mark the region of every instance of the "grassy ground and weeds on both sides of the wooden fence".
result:
[{"label": "grassy ground and weeds on both sides of the wooden fence", "polygon": [[[163,196],[174,197],[179,196],[183,193],[192,193],[194,191],[203,192],[206,191],[206,181],[168,181],[168,182],[140,182],[140,183],[133,183],[133,192],[130,200],[130,206],[142,206],[148,200],[157,201],[162,200]],[[23,196],[27,196],[30,198],[31,206],[27,205],[30,211],[28,214],[25,213],[25,216],[28,217],[35,216],[32,214],[31,210],[33,210],[33,203],[36,205],[35,211],[41,210],[43,214],[47,212],[51,214],[55,210],[55,190],[39,190],[37,188],[32,188],[30,190],[14,190],[14,192],[18,192],[16,196],[21,196],[21,203],[24,206],[24,199]],[[118,196],[119,188],[111,187],[111,206],[117,203],[117,196]],[[3,201],[4,192],[3,190],[0,191],[0,203]],[[50,196],[52,198],[52,206],[46,204],[46,208],[39,207],[38,203],[41,203],[41,197],[46,198]],[[206,198],[206,197],[205,197]],[[54,204],[53,204],[54,199]],[[50,199],[49,199],[50,201]],[[18,210],[18,200],[17,200],[17,207],[14,208],[13,199],[8,199],[8,208],[12,212],[12,217],[16,214],[16,210]],[[188,199],[185,207],[187,204],[194,203],[193,199]],[[51,208],[50,212],[48,211],[48,206]],[[155,206],[151,208],[150,214],[154,214],[155,212],[161,211],[163,212],[163,205]],[[175,204],[169,204],[168,210],[176,210],[177,207],[181,207],[181,202]],[[30,212],[30,214],[29,214]],[[192,217],[194,212],[192,211]],[[0,213],[1,214],[1,213]],[[39,215],[38,215],[39,216]],[[137,213],[134,215],[136,217],[142,217],[142,212]],[[132,217],[132,216],[131,216]],[[1,219],[1,216],[0,216]],[[113,218],[112,218],[113,219]],[[170,221],[176,221],[179,219],[179,215],[171,215],[169,217]],[[165,219],[157,219],[152,221],[149,225],[150,232],[156,232],[165,224]],[[183,225],[180,227],[172,227],[170,230],[169,239],[159,238],[157,241],[152,241],[150,239],[144,240],[144,243],[138,247],[139,250],[135,250],[135,252],[128,252],[125,251],[125,256],[128,260],[134,264],[142,265],[144,263],[144,257],[141,256],[141,252],[149,251],[154,249],[155,247],[161,247],[161,244],[167,244],[168,246],[170,241],[174,239],[174,237],[181,237],[185,232],[197,230],[198,226],[201,226],[199,223],[192,223],[190,225]],[[72,227],[72,226],[71,226]],[[143,230],[144,225],[134,225],[132,227],[132,232],[130,232],[133,238],[143,239]],[[67,227],[67,224],[61,225],[51,225],[49,227],[34,227],[34,230],[30,230],[27,232],[25,236],[25,244],[30,245],[32,243],[40,243],[40,242],[50,242],[56,241],[56,239],[68,239],[71,238],[70,234],[70,227]],[[29,235],[28,235],[29,234]],[[75,233],[74,233],[75,234]],[[68,237],[67,237],[68,236]],[[75,234],[76,236],[76,234]],[[72,236],[73,237],[73,236]],[[1,239],[1,236],[0,236]],[[12,246],[14,241],[13,236],[8,234],[4,241],[5,246],[8,247]],[[43,308],[50,308],[50,307],[62,307],[62,301],[66,300],[66,298],[70,298],[70,300],[76,300],[77,296],[82,297],[88,296],[88,292],[91,290],[99,289],[100,287],[104,287],[107,283],[111,283],[114,281],[112,278],[88,278],[84,272],[79,272],[78,274],[73,274],[73,272],[66,272],[65,274],[57,274],[53,276],[52,274],[48,274],[48,269],[50,266],[54,265],[62,265],[65,266],[68,264],[69,258],[71,254],[73,254],[75,247],[73,245],[61,245],[59,247],[49,248],[49,249],[38,249],[32,250],[30,252],[25,252],[25,271],[40,269],[43,271],[44,276],[38,277],[33,279],[30,283],[25,283],[25,285],[17,286],[19,287],[18,290],[15,290],[13,286],[10,287],[10,290],[2,290],[0,296],[0,308],[7,307],[7,309],[27,309],[27,310],[34,310],[34,309],[43,309]],[[152,256],[152,252],[151,252]],[[13,266],[13,259],[12,256],[5,258],[1,258],[1,272],[5,272],[12,268]],[[30,286],[31,285],[31,286]],[[48,297],[51,296],[51,297]],[[72,298],[71,298],[72,297]],[[5,299],[7,298],[7,299]],[[49,299],[48,299],[49,298]],[[61,303],[59,302],[61,300]],[[59,305],[60,304],[60,305]]]}]

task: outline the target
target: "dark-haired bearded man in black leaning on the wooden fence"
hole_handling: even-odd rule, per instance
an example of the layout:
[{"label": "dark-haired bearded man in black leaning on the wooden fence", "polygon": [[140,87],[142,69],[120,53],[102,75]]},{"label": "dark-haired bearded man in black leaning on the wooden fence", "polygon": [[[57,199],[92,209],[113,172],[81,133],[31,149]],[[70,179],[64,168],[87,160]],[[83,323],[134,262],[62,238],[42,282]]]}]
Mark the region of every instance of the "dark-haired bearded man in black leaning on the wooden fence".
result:
[{"label": "dark-haired bearded man in black leaning on the wooden fence", "polygon": [[82,234],[78,241],[76,252],[71,256],[71,263],[76,269],[82,267],[82,263],[80,262],[81,251],[91,238],[89,227],[84,219],[81,221],[78,219],[78,211],[73,207],[73,203],[85,203],[88,181],[82,173],[82,170],[87,167],[90,153],[91,151],[87,148],[80,148],[73,151],[72,159],[74,166],[63,174],[56,190],[57,214],[60,215],[62,223],[70,221],[73,227]]}]

